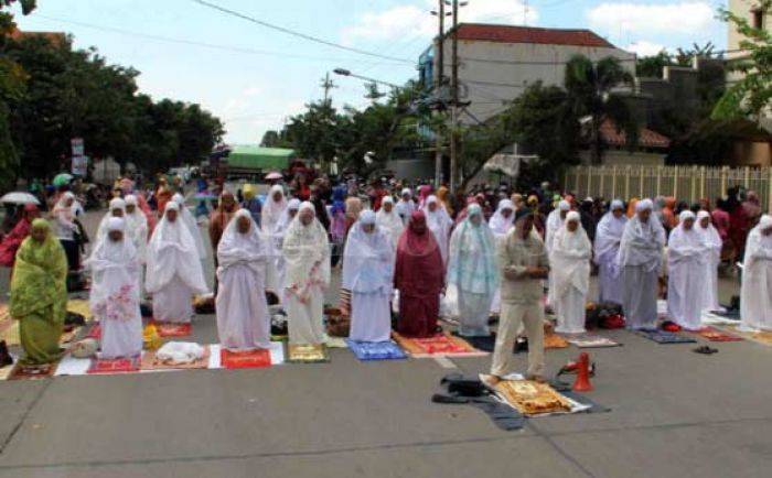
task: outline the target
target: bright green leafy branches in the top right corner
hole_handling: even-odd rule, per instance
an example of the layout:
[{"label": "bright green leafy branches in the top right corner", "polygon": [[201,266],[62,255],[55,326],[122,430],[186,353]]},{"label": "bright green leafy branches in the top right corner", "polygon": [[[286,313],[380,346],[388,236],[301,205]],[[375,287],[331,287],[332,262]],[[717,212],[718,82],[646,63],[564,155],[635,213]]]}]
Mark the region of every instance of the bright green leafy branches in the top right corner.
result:
[{"label": "bright green leafy branches in the top right corner", "polygon": [[[772,11],[772,0],[760,0],[757,8]],[[732,23],[744,36],[740,48],[747,52],[742,58],[730,62],[730,69],[742,78],[733,83],[712,111],[714,119],[748,118],[758,121],[772,105],[772,33],[763,28],[755,29],[744,18],[723,8],[719,18]]]}]

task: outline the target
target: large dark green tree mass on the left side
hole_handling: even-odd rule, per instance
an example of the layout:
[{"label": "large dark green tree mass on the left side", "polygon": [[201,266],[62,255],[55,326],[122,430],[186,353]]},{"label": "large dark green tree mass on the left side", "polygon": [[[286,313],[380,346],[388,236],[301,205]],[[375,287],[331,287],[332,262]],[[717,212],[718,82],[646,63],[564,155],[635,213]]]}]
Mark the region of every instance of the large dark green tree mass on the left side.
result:
[{"label": "large dark green tree mass on the left side", "polygon": [[24,94],[11,100],[11,124],[28,177],[67,169],[76,137],[94,159],[154,173],[205,159],[224,133],[199,105],[138,94],[139,72],[108,64],[94,48],[73,50],[71,39],[31,36],[9,42],[6,53],[26,78]]}]

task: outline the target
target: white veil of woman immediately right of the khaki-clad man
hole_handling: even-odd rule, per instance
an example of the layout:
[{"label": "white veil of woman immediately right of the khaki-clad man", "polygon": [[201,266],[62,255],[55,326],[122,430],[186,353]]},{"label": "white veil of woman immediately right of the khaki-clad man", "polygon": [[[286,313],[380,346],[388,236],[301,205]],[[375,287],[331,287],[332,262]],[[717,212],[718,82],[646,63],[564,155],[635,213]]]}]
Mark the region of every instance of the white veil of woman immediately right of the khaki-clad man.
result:
[{"label": "white veil of woman immediately right of the khaki-clad man", "polygon": [[[568,222],[577,222],[575,231],[568,230]],[[549,252],[555,296],[562,295],[570,286],[587,294],[590,286],[590,259],[592,246],[581,227],[581,216],[572,210],[566,215],[566,221],[558,229]]]}]

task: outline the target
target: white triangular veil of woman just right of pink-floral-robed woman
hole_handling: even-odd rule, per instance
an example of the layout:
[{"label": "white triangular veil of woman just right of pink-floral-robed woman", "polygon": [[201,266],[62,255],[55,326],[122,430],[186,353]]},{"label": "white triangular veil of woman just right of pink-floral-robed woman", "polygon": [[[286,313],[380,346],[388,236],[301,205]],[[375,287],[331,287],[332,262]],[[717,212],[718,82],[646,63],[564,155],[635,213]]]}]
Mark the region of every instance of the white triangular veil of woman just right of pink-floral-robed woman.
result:
[{"label": "white triangular veil of woman just right of pink-floral-robed woman", "polygon": [[[178,213],[174,222],[167,217],[170,210]],[[182,220],[180,206],[173,200],[167,203],[163,217],[153,230],[147,260],[146,289],[149,293],[160,291],[174,278],[195,293],[203,294],[207,291],[195,241]]]}]

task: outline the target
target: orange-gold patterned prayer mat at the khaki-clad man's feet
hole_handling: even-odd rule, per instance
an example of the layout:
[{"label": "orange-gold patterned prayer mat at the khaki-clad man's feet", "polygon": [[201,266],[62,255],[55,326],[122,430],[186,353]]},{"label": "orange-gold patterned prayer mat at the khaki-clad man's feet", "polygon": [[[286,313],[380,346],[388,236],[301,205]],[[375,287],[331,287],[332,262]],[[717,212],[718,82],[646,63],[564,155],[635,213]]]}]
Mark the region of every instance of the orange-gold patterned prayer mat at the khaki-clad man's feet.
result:
[{"label": "orange-gold patterned prayer mat at the khaki-clad man's feet", "polygon": [[495,390],[498,398],[526,416],[575,411],[573,403],[547,383],[503,380],[496,384]]}]

